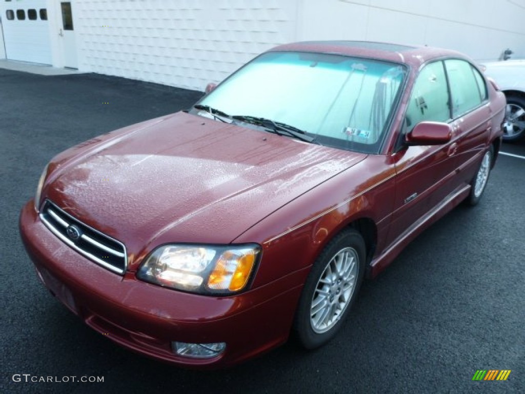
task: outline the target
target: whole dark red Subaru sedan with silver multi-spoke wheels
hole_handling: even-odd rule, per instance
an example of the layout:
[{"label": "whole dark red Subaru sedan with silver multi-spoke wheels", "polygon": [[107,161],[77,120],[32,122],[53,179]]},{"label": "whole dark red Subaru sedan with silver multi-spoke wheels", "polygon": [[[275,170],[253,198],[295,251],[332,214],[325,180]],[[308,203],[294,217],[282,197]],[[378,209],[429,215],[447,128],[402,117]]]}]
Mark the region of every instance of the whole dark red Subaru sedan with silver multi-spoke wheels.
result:
[{"label": "whole dark red Subaru sedan with silver multi-spoke wheels", "polygon": [[207,92],[58,154],[20,214],[73,313],[193,368],[333,338],[364,277],[479,202],[506,105],[464,55],[369,42],[282,45]]}]

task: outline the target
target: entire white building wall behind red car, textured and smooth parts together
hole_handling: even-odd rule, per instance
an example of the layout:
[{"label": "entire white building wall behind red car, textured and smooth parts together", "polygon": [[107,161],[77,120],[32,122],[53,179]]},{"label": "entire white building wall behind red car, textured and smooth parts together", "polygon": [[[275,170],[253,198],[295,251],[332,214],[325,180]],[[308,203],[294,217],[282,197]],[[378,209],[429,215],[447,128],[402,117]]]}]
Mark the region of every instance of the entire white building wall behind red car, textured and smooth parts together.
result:
[{"label": "entire white building wall behind red car, textured and smooth parts together", "polygon": [[[50,1],[50,0],[48,0]],[[204,90],[272,46],[354,39],[525,58],[525,0],[74,0],[79,69]]]}]

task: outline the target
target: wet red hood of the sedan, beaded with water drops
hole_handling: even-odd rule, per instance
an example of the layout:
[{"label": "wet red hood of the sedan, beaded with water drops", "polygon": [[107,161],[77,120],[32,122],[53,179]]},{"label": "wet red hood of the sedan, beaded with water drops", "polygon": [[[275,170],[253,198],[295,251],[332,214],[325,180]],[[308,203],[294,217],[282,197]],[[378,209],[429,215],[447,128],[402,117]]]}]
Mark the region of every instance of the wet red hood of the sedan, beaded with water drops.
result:
[{"label": "wet red hood of the sedan, beaded with water drops", "polygon": [[364,158],[179,112],[80,150],[44,195],[136,255],[154,241],[232,242]]}]

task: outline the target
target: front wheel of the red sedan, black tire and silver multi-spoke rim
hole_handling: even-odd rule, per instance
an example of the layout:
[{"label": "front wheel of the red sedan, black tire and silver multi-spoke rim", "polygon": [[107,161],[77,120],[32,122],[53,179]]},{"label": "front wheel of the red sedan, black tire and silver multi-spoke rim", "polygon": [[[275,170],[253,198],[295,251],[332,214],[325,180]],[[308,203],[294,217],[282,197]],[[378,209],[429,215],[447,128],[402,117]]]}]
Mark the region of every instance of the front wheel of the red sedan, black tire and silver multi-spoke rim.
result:
[{"label": "front wheel of the red sedan, black tire and silver multi-spoke rim", "polygon": [[363,281],[365,255],[363,237],[354,229],[344,230],[324,247],[304,284],[295,316],[304,348],[317,348],[337,334]]}]

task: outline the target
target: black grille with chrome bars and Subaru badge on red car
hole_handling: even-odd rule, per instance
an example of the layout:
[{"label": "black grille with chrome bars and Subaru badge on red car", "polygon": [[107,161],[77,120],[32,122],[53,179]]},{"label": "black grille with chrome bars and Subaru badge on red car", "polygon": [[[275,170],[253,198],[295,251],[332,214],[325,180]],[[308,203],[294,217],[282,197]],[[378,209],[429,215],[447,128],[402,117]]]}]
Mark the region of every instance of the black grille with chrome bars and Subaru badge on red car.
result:
[{"label": "black grille with chrome bars and Subaru badge on red car", "polygon": [[110,271],[124,274],[128,257],[122,242],[78,221],[49,200],[44,202],[39,215],[53,234],[78,253]]}]

